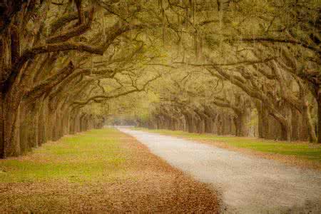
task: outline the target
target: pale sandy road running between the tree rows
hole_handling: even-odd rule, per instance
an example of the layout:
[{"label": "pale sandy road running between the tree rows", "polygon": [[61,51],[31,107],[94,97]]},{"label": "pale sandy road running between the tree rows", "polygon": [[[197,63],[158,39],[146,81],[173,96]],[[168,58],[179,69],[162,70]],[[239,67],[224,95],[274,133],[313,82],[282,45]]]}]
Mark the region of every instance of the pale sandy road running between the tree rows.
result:
[{"label": "pale sandy road running between the tree rows", "polygon": [[221,194],[223,213],[321,213],[321,172],[156,133],[119,128]]}]

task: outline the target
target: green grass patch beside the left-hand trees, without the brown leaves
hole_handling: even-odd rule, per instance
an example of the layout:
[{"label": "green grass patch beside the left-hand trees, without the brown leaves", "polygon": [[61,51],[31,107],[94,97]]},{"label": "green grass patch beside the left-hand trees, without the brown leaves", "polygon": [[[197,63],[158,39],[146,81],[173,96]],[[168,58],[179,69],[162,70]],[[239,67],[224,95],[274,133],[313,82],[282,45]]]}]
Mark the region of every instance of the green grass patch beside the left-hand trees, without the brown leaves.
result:
[{"label": "green grass patch beside the left-hand trees, without the brown leaves", "polygon": [[1,160],[0,183],[113,179],[125,160],[118,131],[93,130],[45,143],[20,158]]}]

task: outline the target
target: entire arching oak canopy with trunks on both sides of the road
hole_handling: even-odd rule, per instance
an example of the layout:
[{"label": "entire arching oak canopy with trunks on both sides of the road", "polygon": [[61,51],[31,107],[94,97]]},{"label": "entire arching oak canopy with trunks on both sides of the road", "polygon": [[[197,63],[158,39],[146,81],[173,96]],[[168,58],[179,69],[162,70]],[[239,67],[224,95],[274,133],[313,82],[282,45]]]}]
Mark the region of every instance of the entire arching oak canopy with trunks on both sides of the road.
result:
[{"label": "entire arching oak canopy with trunks on both sides of the road", "polygon": [[0,156],[121,115],[321,143],[317,0],[1,0]]}]

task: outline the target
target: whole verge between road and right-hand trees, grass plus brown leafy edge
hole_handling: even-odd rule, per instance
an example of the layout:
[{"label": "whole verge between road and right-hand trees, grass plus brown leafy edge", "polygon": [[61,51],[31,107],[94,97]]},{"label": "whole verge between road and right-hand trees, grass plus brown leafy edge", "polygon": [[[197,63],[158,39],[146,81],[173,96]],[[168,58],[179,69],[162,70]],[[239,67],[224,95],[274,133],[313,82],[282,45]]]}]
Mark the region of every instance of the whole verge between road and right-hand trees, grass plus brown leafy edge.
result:
[{"label": "whole verge between road and right-hand trees, grass plus brown leafy edge", "polygon": [[321,170],[321,145],[317,143],[289,143],[286,141],[272,141],[258,138],[216,136],[209,133],[199,134],[185,131],[148,130],[147,128],[132,129],[185,138],[198,143],[225,148],[230,151],[238,151],[250,156],[280,161],[288,165]]}]

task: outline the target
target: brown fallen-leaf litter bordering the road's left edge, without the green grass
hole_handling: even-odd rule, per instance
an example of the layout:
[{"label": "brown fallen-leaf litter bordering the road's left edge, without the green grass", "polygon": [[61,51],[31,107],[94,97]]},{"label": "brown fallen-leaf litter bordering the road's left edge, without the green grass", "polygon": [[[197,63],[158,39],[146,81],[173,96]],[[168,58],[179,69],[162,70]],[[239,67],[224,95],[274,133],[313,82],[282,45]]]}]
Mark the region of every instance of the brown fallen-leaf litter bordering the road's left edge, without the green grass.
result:
[{"label": "brown fallen-leaf litter bordering the road's left edge, without the green grass", "polygon": [[120,136],[129,152],[117,181],[0,183],[1,213],[218,213],[218,198],[208,185],[171,167],[134,138]]}]

